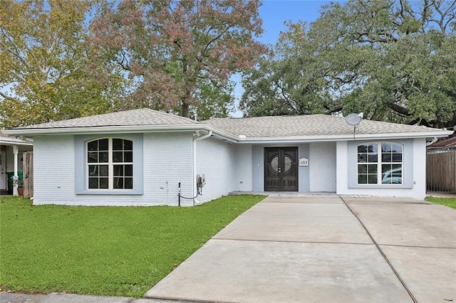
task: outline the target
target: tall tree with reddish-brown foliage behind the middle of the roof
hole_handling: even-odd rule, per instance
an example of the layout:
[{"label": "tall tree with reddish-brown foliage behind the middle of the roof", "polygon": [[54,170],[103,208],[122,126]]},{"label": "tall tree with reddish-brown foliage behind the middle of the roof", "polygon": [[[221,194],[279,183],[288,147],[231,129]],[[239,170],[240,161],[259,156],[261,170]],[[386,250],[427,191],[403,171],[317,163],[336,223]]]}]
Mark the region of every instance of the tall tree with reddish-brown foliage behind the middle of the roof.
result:
[{"label": "tall tree with reddish-brown foliage behind the middle of the roof", "polygon": [[258,7],[258,0],[106,4],[94,41],[135,84],[123,107],[226,116],[233,104],[230,76],[266,50],[254,41],[262,32]]}]

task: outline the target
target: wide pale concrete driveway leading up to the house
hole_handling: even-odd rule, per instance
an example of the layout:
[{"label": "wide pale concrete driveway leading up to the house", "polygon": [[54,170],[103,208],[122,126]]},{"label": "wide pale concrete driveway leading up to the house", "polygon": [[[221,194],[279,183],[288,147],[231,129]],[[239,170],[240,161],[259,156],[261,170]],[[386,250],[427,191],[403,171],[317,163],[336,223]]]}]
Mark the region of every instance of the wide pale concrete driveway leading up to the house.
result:
[{"label": "wide pale concrete driveway leading up to the house", "polygon": [[456,211],[400,198],[269,196],[145,297],[456,302]]}]

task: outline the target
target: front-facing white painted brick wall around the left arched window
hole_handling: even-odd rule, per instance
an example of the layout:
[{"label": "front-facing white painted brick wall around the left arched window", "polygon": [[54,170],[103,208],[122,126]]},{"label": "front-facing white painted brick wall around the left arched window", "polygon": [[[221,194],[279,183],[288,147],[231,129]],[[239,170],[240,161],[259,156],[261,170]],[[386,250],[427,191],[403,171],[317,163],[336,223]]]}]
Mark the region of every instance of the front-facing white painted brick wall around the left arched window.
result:
[{"label": "front-facing white painted brick wall around the left arched window", "polygon": [[[35,204],[177,206],[179,182],[182,196],[192,196],[190,133],[144,134],[142,195],[76,195],[73,136],[37,136],[34,147]],[[193,205],[192,200],[181,203]]]}]

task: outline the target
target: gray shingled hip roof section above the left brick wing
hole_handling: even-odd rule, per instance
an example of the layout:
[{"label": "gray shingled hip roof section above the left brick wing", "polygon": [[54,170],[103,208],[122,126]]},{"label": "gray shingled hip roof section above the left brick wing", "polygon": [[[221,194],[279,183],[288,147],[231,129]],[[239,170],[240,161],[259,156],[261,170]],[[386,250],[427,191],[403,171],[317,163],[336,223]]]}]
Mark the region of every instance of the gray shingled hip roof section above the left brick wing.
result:
[{"label": "gray shingled hip roof section above the left brick wing", "polygon": [[166,112],[157,112],[142,108],[140,110],[127,110],[123,112],[111,112],[110,114],[95,115],[76,119],[67,119],[56,122],[35,124],[16,129],[52,129],[71,127],[110,127],[130,125],[183,125],[195,124],[192,119],[180,117]]}]

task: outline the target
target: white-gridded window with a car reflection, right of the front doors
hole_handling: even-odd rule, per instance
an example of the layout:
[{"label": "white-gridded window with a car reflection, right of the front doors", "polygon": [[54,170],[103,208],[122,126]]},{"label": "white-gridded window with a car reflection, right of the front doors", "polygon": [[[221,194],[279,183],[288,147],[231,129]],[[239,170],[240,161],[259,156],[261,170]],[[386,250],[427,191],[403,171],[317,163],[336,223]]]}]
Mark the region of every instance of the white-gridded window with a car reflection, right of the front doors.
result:
[{"label": "white-gridded window with a car reflection, right of the front doors", "polygon": [[403,145],[393,142],[358,145],[358,184],[403,184]]}]

